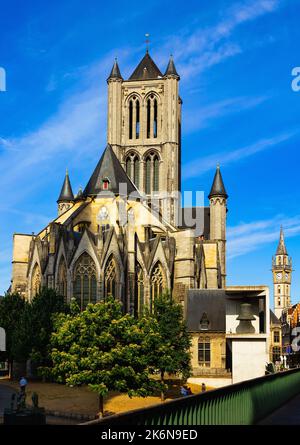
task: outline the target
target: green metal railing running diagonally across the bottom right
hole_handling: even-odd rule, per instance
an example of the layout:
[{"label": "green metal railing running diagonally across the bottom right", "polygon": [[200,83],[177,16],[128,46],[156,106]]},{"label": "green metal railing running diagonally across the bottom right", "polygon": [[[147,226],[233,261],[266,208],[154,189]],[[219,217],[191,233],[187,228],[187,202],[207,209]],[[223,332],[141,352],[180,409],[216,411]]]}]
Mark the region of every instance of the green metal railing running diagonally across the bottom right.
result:
[{"label": "green metal railing running diagonally across the bottom right", "polygon": [[253,425],[298,393],[300,369],[293,369],[86,425]]}]

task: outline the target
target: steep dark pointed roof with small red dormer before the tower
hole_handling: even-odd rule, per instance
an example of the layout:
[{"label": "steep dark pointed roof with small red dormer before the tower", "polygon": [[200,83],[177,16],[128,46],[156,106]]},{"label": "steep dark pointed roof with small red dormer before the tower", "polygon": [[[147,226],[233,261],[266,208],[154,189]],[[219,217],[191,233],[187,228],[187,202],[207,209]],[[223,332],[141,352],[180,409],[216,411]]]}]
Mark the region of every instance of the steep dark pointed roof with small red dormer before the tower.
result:
[{"label": "steep dark pointed roof with small red dormer before the tower", "polygon": [[126,192],[125,194],[127,196],[129,193],[134,192],[136,193],[135,196],[139,196],[135,185],[127,176],[110,144],[107,144],[100,161],[90,177],[90,180],[83,191],[83,197],[96,196],[100,192],[103,193],[105,191],[103,190],[103,182],[106,180],[109,183],[107,192],[119,195],[119,185],[125,184],[127,190],[124,190],[124,192]]}]

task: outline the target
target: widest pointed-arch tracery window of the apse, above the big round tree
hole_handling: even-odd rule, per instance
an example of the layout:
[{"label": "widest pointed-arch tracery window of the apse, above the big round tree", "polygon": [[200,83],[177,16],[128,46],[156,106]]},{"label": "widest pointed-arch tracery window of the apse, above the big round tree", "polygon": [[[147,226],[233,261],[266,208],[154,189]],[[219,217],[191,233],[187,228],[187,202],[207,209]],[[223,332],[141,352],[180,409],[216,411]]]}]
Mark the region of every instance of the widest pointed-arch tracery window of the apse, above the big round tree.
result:
[{"label": "widest pointed-arch tracery window of the apse, above the big round tree", "polygon": [[74,297],[84,310],[89,303],[97,301],[96,265],[90,255],[83,253],[76,262],[74,269]]}]

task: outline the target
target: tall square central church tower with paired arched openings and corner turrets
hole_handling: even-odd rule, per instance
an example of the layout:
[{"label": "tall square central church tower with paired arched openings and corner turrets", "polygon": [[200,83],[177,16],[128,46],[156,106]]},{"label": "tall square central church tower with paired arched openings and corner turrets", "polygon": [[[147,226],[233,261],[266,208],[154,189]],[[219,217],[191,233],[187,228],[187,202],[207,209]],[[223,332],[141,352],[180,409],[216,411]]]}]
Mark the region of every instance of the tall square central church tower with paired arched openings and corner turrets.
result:
[{"label": "tall square central church tower with paired arched openings and corner turrets", "polygon": [[136,187],[148,199],[157,197],[171,222],[176,200],[170,194],[181,188],[179,80],[172,57],[162,74],[148,51],[128,80],[117,61],[107,79],[107,142]]}]

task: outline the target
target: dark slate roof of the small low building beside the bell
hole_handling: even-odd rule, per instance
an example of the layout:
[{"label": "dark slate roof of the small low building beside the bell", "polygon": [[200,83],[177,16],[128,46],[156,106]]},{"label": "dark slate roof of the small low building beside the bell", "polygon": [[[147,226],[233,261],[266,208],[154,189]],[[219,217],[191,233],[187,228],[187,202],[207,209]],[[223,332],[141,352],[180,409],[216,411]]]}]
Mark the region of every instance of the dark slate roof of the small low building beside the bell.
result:
[{"label": "dark slate roof of the small low building beside the bell", "polygon": [[[226,293],[223,289],[190,289],[187,295],[186,320],[189,332],[225,332]],[[206,313],[208,330],[200,329],[200,320]]]}]

